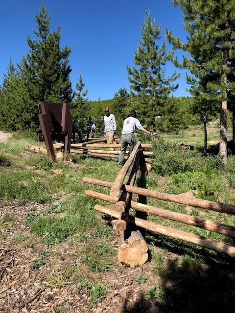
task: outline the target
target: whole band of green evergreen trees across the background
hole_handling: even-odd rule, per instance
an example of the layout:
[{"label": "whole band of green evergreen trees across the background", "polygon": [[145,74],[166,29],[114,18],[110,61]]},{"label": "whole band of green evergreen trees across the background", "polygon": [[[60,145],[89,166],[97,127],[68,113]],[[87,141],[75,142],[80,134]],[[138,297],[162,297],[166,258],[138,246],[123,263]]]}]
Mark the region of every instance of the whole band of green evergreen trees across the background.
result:
[{"label": "whole band of green evergreen trees across the background", "polygon": [[[129,110],[136,110],[141,123],[153,132],[177,132],[189,125],[220,119],[219,152],[227,159],[227,128],[230,120],[235,142],[235,1],[172,0],[182,10],[187,42],[181,43],[166,29],[165,37],[172,45],[166,53],[165,41],[161,39],[161,25],[146,12],[141,25],[141,40],[134,51],[135,67],[127,66],[130,92],[117,88],[113,99],[89,101],[80,74],[76,90],[72,90],[69,64],[71,48],[60,46],[60,27],[50,31],[50,16],[42,3],[33,30],[36,39],[27,37],[29,50],[16,66],[11,60],[0,86],[0,129],[14,132],[40,130],[38,120],[39,102],[70,103],[71,113],[79,130],[85,131],[89,116],[97,128],[103,127],[104,106],[116,115],[118,132]],[[189,57],[182,62],[174,58],[174,51],[182,49]],[[176,68],[188,69],[186,80],[191,97],[174,97],[178,88],[175,83],[179,74],[175,71],[165,75],[165,64],[171,62]],[[234,147],[234,144],[233,144]],[[234,151],[234,149],[233,149]]]}]

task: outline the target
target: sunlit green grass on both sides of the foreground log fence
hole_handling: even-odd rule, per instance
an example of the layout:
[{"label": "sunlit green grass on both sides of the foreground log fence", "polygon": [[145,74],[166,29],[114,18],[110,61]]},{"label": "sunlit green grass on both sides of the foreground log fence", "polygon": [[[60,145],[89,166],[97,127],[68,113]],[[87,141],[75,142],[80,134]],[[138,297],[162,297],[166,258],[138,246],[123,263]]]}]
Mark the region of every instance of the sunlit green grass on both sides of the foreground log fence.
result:
[{"label": "sunlit green grass on both sides of the foreground log fence", "polygon": [[[210,128],[209,140],[218,139],[215,131],[218,132],[216,127]],[[79,294],[87,299],[87,308],[95,308],[107,295],[108,283],[105,284],[102,279],[104,273],[111,268],[118,268],[117,246],[112,244],[115,234],[110,217],[104,217],[94,211],[96,203],[107,203],[85,196],[85,190],[88,188],[107,194],[109,190],[88,186],[82,179],[87,176],[114,181],[119,171],[117,162],[80,155],[72,156],[74,164],[51,161],[47,156],[27,150],[26,143],[40,144],[33,136],[19,136],[20,134],[14,135],[7,142],[0,143],[0,202],[2,205],[13,200],[19,205],[45,204],[43,211],[32,208],[24,216],[24,223],[30,227],[30,238],[34,238],[30,245],[40,244],[45,247],[31,260],[30,268],[37,271],[53,262],[53,270],[47,276],[45,285],[60,290],[73,282],[79,289]],[[141,138],[142,141],[149,140],[149,137],[144,135]],[[201,153],[203,141],[201,126],[177,135],[162,134],[153,145],[156,155],[152,163],[153,170],[144,179],[137,180],[137,183],[145,183],[148,189],[161,192],[180,194],[190,191],[202,199],[235,204],[235,156],[229,155],[226,165],[216,154],[205,157]],[[193,144],[194,151],[182,151],[178,146],[182,142]],[[147,204],[188,213],[184,205],[176,203],[149,198]],[[235,223],[234,216],[210,210],[193,208],[191,215],[228,225]],[[153,215],[147,219],[234,245],[234,240],[205,229]],[[1,215],[2,237],[7,229],[14,228],[14,224],[14,211]],[[212,277],[217,285],[219,279],[222,279],[222,282],[225,280],[222,274],[217,275],[215,269],[213,271],[211,268],[221,264],[222,273],[225,270],[223,266],[230,262],[226,256],[219,256],[214,251],[150,231],[146,231],[145,239],[151,255],[151,273],[149,276],[142,273],[134,277],[133,281],[145,286],[151,277],[152,285],[145,291],[143,298],[155,301],[160,308],[158,312],[174,312],[167,299],[178,302],[183,308],[186,306],[183,303],[185,295],[189,297],[197,291],[195,300],[191,304],[188,303],[191,312],[196,312],[196,301],[201,301],[200,284],[208,284],[212,288],[212,282],[207,282],[207,279]],[[29,241],[28,236],[20,232],[15,233],[12,240],[22,246]],[[62,268],[58,251],[60,246],[65,244],[74,246],[74,259]],[[161,283],[155,283],[159,278]],[[231,276],[229,281],[233,283],[234,278]],[[225,292],[228,292],[226,288],[223,291],[222,287],[225,287],[225,282],[221,284],[221,293],[214,302],[214,293],[207,291],[207,297],[211,297],[208,303],[212,308],[216,307],[219,301],[223,301]],[[66,302],[62,302],[56,312],[66,312],[66,306]],[[182,309],[182,312],[187,311]]]}]

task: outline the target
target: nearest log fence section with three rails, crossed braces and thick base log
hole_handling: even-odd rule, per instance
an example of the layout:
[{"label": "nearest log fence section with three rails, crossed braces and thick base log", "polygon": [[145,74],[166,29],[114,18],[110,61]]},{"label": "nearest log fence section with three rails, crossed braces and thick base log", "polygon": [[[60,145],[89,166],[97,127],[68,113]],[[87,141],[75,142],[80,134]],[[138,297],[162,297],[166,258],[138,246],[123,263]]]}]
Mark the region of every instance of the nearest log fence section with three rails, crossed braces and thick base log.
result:
[{"label": "nearest log fence section with three rails, crossed braces and thick base log", "polygon": [[[88,177],[83,178],[83,182],[85,183],[110,188],[110,195],[101,194],[92,190],[86,190],[85,194],[96,199],[115,203],[114,209],[98,204],[96,204],[94,208],[99,212],[103,212],[115,218],[112,224],[118,239],[118,261],[125,265],[134,267],[136,265],[144,264],[148,259],[147,245],[141,235],[141,232],[138,230],[133,230],[130,225],[135,225],[137,227],[164,234],[166,236],[170,236],[235,257],[235,246],[230,246],[223,242],[218,242],[193,233],[188,233],[186,231],[169,226],[156,224],[154,222],[146,221],[129,215],[129,209],[132,208],[134,210],[144,212],[145,214],[153,214],[169,220],[178,221],[184,224],[200,227],[235,238],[234,226],[221,224],[188,214],[168,211],[159,207],[132,201],[132,195],[137,194],[139,196],[151,197],[159,200],[181,203],[192,207],[204,208],[220,213],[235,215],[235,205],[197,199],[193,196],[172,195],[135,187],[134,184],[138,169],[144,171],[144,164],[142,166],[140,165],[140,160],[144,160],[143,156],[141,156],[140,148],[141,141],[139,141],[135,146],[132,154],[121,168],[114,182],[92,179]],[[130,176],[127,183],[124,185],[123,181],[131,164],[133,164],[133,167]],[[121,190],[122,193],[119,196]]]}]

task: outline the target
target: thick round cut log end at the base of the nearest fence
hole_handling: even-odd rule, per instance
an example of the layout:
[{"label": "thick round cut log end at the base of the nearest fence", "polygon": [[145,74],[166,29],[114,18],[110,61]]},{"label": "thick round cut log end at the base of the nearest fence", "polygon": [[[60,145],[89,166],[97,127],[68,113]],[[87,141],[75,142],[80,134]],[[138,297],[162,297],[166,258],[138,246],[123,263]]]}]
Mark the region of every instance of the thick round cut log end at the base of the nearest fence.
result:
[{"label": "thick round cut log end at the base of the nearest fence", "polygon": [[143,265],[148,259],[148,247],[139,230],[132,231],[118,248],[118,261],[131,268]]}]

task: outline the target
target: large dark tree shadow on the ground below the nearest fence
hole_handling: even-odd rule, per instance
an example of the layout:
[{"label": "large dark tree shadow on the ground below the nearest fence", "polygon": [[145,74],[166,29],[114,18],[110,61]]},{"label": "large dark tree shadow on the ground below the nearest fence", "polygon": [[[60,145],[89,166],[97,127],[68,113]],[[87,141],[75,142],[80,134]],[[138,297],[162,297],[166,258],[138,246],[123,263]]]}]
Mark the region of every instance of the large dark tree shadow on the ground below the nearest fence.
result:
[{"label": "large dark tree shadow on the ground below the nearest fence", "polygon": [[[161,245],[161,244],[160,244]],[[164,243],[164,249],[178,255],[183,249]],[[191,246],[189,247],[191,249]],[[200,250],[200,251],[199,251]],[[185,252],[186,253],[186,252]],[[195,247],[192,256],[201,255],[202,262],[193,264],[187,258],[179,264],[169,258],[160,270],[161,297],[141,295],[132,307],[123,307],[123,313],[214,313],[234,312],[235,262],[232,257]],[[213,253],[213,252],[212,252]],[[187,254],[190,254],[187,251]],[[124,303],[125,305],[125,303]]]}]

